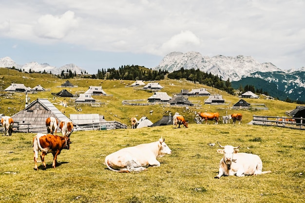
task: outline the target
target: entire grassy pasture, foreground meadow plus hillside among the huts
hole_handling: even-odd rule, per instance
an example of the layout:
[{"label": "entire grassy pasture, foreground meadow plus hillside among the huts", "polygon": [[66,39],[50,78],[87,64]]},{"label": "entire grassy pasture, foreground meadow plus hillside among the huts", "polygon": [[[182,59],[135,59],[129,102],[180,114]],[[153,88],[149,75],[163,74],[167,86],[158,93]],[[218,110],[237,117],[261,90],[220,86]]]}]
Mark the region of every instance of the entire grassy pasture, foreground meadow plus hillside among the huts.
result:
[{"label": "entire grassy pasture, foreground meadow plus hillside among the huts", "polygon": [[[247,99],[249,103],[264,103],[269,110],[239,110],[243,124],[209,125],[196,124],[195,112],[219,112],[220,116],[236,112],[229,107],[239,98],[188,81],[165,79],[158,81],[165,87],[162,92],[180,92],[181,89],[207,88],[210,93],[220,93],[225,105],[204,105],[204,98],[190,97],[201,107],[178,108],[162,105],[128,106],[122,100],[145,99],[152,92],[126,88],[119,81],[75,78],[69,81],[78,87],[71,93],[84,92],[89,86],[101,85],[113,96],[93,96],[101,102],[100,107],[81,105],[77,112],[73,101],[53,98],[51,92],[65,79],[48,74],[24,74],[14,70],[0,69],[1,88],[11,83],[23,83],[26,87],[40,84],[50,92],[29,94],[31,101],[49,98],[59,111],[68,117],[71,113],[99,113],[108,121],[117,120],[128,129],[75,131],[70,136],[70,150],[63,149],[58,155],[58,165],[52,168],[53,157],[45,157],[47,169],[34,168],[32,148],[34,133],[13,133],[0,136],[0,202],[2,203],[299,203],[305,201],[304,130],[248,125],[252,115],[285,116],[296,104],[277,100]],[[132,81],[124,81],[125,83]],[[115,87],[114,87],[115,86]],[[69,90],[68,90],[69,91]],[[0,113],[13,115],[24,108],[24,93],[0,92]],[[60,102],[67,102],[67,107]],[[152,114],[150,111],[153,110]],[[130,118],[147,116],[153,123],[169,112],[179,112],[189,121],[189,128],[173,129],[173,126],[131,129]],[[59,134],[59,133],[58,133]],[[116,173],[104,165],[105,157],[121,148],[165,138],[172,154],[158,158],[160,167],[149,167],[139,173]],[[228,176],[214,179],[218,174],[222,155],[217,145],[241,145],[240,152],[253,153],[263,161],[263,170],[269,174],[259,176]],[[215,144],[215,145],[214,145]],[[39,158],[38,158],[39,160]]]}]

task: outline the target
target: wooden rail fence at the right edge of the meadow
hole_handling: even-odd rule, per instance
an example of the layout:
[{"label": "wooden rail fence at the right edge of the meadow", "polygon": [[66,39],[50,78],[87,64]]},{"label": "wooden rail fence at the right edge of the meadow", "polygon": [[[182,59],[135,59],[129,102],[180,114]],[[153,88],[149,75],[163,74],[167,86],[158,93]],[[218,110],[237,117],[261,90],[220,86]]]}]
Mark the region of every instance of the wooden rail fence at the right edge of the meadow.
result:
[{"label": "wooden rail fence at the right edge of the meadow", "polygon": [[277,126],[290,129],[305,129],[304,118],[287,118],[279,116],[259,116],[253,115],[253,125]]}]

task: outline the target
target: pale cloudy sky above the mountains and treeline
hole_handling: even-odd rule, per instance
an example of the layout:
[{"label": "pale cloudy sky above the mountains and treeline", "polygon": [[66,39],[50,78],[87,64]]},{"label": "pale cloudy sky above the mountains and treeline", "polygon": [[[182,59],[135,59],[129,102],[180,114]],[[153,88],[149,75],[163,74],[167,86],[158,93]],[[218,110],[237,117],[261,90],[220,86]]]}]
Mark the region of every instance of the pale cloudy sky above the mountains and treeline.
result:
[{"label": "pale cloudy sky above the mountains and treeline", "polygon": [[171,52],[305,67],[305,0],[0,0],[0,58],[154,68]]}]

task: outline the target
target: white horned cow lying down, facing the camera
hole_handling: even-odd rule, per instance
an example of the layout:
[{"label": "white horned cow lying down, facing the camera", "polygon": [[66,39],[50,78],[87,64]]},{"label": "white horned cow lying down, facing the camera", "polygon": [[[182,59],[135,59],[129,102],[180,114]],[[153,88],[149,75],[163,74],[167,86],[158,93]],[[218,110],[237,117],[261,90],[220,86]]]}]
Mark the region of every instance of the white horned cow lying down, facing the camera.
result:
[{"label": "white horned cow lying down, facing the camera", "polygon": [[225,147],[218,145],[223,149],[217,149],[217,152],[224,154],[219,163],[219,173],[214,178],[220,178],[222,175],[235,175],[243,177],[245,175],[259,175],[271,173],[271,171],[262,171],[263,163],[259,156],[248,153],[237,153],[239,147],[227,145]]}]

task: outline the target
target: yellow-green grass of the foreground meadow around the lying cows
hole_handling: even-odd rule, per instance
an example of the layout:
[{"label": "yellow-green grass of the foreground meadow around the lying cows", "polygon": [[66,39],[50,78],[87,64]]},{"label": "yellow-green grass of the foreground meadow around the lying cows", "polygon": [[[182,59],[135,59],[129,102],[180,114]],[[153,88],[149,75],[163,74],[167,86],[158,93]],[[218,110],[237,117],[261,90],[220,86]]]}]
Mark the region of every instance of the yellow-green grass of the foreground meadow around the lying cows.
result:
[{"label": "yellow-green grass of the foreground meadow around the lying cows", "polygon": [[[302,130],[249,125],[172,126],[110,131],[82,131],[71,135],[70,150],[52,168],[33,170],[34,134],[0,137],[0,202],[5,203],[300,203],[305,201]],[[129,146],[154,142],[161,136],[172,149],[158,158],[160,167],[140,173],[115,173],[103,164],[106,155]],[[261,176],[214,179],[221,155],[209,143],[237,146],[258,154]],[[41,163],[38,163],[38,166]]]}]

